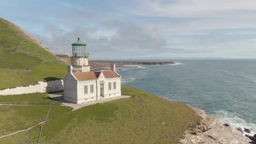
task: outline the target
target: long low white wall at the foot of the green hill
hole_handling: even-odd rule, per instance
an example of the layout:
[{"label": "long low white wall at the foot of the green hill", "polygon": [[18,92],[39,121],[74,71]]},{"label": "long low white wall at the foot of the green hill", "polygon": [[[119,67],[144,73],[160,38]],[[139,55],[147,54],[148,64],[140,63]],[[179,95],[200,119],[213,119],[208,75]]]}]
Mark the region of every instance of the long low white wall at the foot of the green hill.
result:
[{"label": "long low white wall at the foot of the green hill", "polygon": [[55,81],[38,81],[36,85],[29,85],[24,87],[7,88],[0,90],[0,95],[26,94],[26,93],[44,93],[57,92],[63,90],[63,80]]}]

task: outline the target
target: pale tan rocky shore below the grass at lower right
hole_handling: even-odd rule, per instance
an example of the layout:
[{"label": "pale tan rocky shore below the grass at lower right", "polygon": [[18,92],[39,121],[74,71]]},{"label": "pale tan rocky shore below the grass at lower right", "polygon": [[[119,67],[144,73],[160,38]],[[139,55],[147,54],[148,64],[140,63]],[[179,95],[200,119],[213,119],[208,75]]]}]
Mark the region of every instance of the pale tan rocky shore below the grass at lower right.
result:
[{"label": "pale tan rocky shore below the grass at lower right", "polygon": [[[191,107],[191,106],[190,106]],[[219,119],[213,116],[208,116],[201,109],[195,110],[197,115],[202,117],[200,125],[195,128],[190,128],[186,131],[184,139],[179,141],[182,144],[195,143],[248,143],[250,140],[243,136],[241,131],[229,127],[229,124],[219,122]]]}]

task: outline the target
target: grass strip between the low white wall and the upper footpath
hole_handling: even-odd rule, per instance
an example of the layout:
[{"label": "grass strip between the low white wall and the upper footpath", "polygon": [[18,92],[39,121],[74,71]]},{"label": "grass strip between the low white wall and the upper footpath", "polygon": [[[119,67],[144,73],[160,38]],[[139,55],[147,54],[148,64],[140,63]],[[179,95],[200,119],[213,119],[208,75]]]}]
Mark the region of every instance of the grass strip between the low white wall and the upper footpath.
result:
[{"label": "grass strip between the low white wall and the upper footpath", "polygon": [[[0,104],[50,105],[51,103],[53,103],[53,100],[49,99],[48,93],[0,95]],[[54,105],[61,105],[61,103],[56,101]]]}]

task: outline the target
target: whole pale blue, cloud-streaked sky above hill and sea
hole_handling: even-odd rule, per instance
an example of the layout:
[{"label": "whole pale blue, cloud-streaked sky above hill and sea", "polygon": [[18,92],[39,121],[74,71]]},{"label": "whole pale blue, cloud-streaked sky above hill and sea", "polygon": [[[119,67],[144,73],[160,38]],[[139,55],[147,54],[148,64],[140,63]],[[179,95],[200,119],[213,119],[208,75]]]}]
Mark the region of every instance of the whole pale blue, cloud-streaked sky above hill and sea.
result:
[{"label": "whole pale blue, cloud-streaked sky above hill and sea", "polygon": [[0,16],[56,54],[91,59],[256,59],[255,0],[2,1]]}]

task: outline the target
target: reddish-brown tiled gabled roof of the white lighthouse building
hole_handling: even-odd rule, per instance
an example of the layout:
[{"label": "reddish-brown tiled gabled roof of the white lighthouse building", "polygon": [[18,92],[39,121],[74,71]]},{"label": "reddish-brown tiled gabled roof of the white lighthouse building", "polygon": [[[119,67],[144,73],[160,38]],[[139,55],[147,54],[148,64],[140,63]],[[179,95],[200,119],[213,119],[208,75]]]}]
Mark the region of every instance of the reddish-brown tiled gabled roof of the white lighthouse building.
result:
[{"label": "reddish-brown tiled gabled roof of the white lighthouse building", "polygon": [[[113,70],[103,70],[102,71],[104,77],[106,79],[120,77]],[[86,72],[75,72],[73,75],[79,81],[87,81],[87,80],[96,80],[101,74],[101,71],[86,71]]]}]

